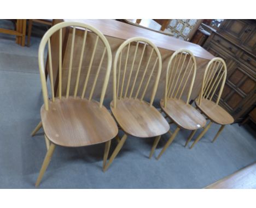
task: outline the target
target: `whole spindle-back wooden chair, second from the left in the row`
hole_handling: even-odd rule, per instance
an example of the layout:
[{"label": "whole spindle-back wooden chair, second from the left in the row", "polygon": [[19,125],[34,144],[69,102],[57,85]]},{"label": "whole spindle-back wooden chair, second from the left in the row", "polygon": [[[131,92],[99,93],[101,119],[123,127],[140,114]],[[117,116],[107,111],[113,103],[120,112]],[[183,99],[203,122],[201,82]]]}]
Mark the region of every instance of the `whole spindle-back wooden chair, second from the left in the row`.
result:
[{"label": "whole spindle-back wooden chair, second from the left in the row", "polygon": [[[117,156],[127,136],[160,138],[169,130],[167,121],[153,106],[161,65],[158,48],[145,38],[128,39],[118,48],[113,64],[113,101],[110,108],[125,134],[104,171]],[[138,74],[141,74],[139,79]],[[144,100],[146,93],[151,97],[149,102]]]}]

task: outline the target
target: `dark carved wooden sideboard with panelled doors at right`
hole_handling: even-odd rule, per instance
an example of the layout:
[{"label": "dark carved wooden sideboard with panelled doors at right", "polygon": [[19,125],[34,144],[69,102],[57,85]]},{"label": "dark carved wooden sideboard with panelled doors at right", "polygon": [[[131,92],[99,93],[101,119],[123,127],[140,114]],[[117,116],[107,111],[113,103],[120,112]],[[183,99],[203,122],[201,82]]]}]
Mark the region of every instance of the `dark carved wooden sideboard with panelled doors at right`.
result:
[{"label": "dark carved wooden sideboard with panelled doors at right", "polygon": [[220,105],[235,122],[242,121],[256,101],[256,21],[224,20],[203,47],[225,60],[228,75]]}]

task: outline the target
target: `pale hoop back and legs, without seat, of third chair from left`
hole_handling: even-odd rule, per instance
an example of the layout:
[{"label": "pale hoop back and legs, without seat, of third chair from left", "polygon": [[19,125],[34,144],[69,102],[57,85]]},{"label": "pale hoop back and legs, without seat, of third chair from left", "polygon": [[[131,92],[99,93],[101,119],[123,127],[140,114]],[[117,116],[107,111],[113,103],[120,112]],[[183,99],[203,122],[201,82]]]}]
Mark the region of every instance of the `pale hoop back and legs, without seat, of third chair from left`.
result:
[{"label": "pale hoop back and legs, without seat, of third chair from left", "polygon": [[[170,124],[176,124],[176,130],[174,132],[168,131],[171,134],[171,137],[168,139],[167,143],[165,144],[164,148],[162,148],[160,154],[157,157],[157,160],[164,154],[165,150],[170,146],[173,142],[174,138],[177,136],[179,130],[183,129],[184,127],[178,125],[172,118],[168,115],[165,111],[167,107],[167,101],[170,100],[182,100],[182,96],[184,94],[185,87],[189,87],[187,99],[185,103],[189,105],[191,91],[193,89],[194,81],[196,76],[196,59],[193,53],[187,49],[179,49],[172,54],[170,60],[167,65],[166,70],[166,78],[165,78],[165,94],[164,94],[164,101],[163,106],[161,105],[160,112],[164,112],[166,114],[165,118],[171,120]],[[190,134],[189,138],[192,138],[196,132],[196,129],[193,130],[193,133]],[[160,139],[155,139],[154,145],[152,147],[152,152],[150,156],[153,155],[156,146],[158,145]],[[187,143],[185,144],[185,146]]]}]

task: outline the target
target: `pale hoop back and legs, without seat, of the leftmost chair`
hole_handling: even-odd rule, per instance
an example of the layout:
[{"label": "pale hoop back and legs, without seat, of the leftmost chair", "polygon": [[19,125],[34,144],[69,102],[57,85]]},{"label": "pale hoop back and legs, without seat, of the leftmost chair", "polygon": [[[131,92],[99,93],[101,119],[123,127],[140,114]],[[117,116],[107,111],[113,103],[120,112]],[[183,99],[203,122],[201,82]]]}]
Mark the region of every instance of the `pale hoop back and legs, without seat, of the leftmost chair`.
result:
[{"label": "pale hoop back and legs, without seat, of the leftmost chair", "polygon": [[[74,98],[77,97],[78,83],[79,83],[79,80],[80,80],[80,72],[81,72],[82,62],[83,62],[83,58],[84,58],[86,36],[87,36],[88,32],[90,31],[90,32],[96,34],[97,38],[96,38],[96,41],[95,41],[94,50],[91,54],[91,59],[90,59],[88,72],[87,72],[87,75],[86,75],[85,80],[84,80],[83,93],[81,95],[81,99],[85,99],[85,91],[86,91],[86,88],[87,88],[87,85],[88,85],[88,79],[89,79],[89,75],[90,75],[90,71],[91,71],[92,62],[94,61],[95,50],[96,50],[96,46],[98,44],[98,40],[100,39],[104,44],[104,50],[103,50],[103,53],[102,53],[101,61],[98,65],[96,76],[95,76],[93,85],[91,87],[90,95],[89,95],[89,98],[88,98],[89,101],[92,99],[92,95],[93,95],[94,89],[95,89],[95,84],[97,82],[97,77],[98,77],[98,74],[101,70],[101,65],[102,65],[103,59],[104,59],[105,55],[107,54],[106,74],[105,74],[103,87],[102,87],[102,91],[101,91],[100,102],[97,102],[99,107],[102,108],[104,95],[106,93],[108,80],[109,80],[109,75],[110,75],[110,70],[111,70],[111,65],[112,65],[112,53],[111,53],[110,46],[109,46],[109,43],[108,43],[106,37],[100,32],[100,30],[98,30],[98,29],[96,29],[96,28],[94,28],[90,25],[86,25],[84,23],[79,23],[79,22],[62,22],[62,23],[59,23],[59,24],[51,27],[44,34],[44,36],[43,36],[43,38],[40,42],[39,50],[38,50],[38,64],[39,64],[40,80],[41,80],[41,83],[42,83],[42,92],[43,92],[43,100],[44,100],[44,106],[43,107],[45,108],[45,111],[48,111],[49,101],[55,102],[57,99],[61,100],[62,97],[63,97],[62,96],[62,29],[63,28],[73,28],[71,54],[70,54],[69,69],[68,69],[68,82],[67,82],[67,90],[66,90],[66,96],[65,96],[66,99],[68,99],[68,97],[71,94],[71,92],[69,90],[69,87],[70,87],[70,83],[71,83],[72,61],[73,61],[73,53],[74,53],[74,40],[75,40],[75,30],[76,30],[76,28],[79,28],[79,29],[83,28],[83,29],[85,29],[85,31],[84,31],[82,51],[81,51],[81,54],[80,54],[80,61],[79,61],[78,74],[77,74],[77,79],[76,79],[76,84],[75,84],[75,90],[74,90],[74,94],[73,94]],[[50,40],[50,38],[51,38],[51,35],[53,35],[54,33],[58,32],[58,31],[59,31],[59,85],[58,85],[58,89],[59,89],[58,94],[59,95],[56,97],[54,95],[53,63],[52,63],[52,56],[51,56],[51,40]],[[48,44],[49,78],[50,78],[51,98],[48,95],[48,89],[47,89],[46,77],[45,77],[44,50],[45,50],[46,44]],[[36,129],[34,129],[34,131],[31,133],[31,135],[34,136],[34,134],[40,129],[40,127],[42,127],[42,121],[39,122]],[[43,174],[44,174],[46,168],[48,167],[51,156],[53,155],[53,152],[54,152],[54,149],[55,149],[55,146],[56,146],[56,144],[49,141],[49,139],[46,137],[46,135],[45,135],[45,142],[46,142],[46,147],[47,147],[48,151],[47,151],[46,156],[44,158],[42,168],[40,169],[40,173],[39,173],[39,176],[38,176],[38,179],[37,179],[37,182],[36,182],[36,186],[38,186],[40,181],[42,180]],[[109,148],[110,148],[110,140],[108,140],[106,142],[104,156],[103,156],[103,167],[106,164]]]}]

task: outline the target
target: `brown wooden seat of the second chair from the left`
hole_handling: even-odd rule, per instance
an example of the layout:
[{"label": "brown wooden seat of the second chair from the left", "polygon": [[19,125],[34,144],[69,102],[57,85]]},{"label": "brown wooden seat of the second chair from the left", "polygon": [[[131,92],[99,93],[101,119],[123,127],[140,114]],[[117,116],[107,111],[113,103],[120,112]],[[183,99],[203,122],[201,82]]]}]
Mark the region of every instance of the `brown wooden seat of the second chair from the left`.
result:
[{"label": "brown wooden seat of the second chair from the left", "polygon": [[116,108],[113,101],[110,107],[120,127],[132,136],[155,137],[165,134],[170,129],[161,113],[146,101],[121,99],[117,100]]}]

